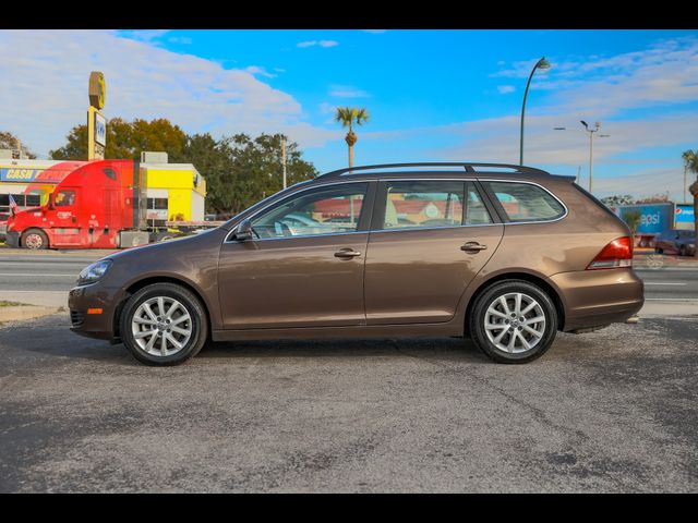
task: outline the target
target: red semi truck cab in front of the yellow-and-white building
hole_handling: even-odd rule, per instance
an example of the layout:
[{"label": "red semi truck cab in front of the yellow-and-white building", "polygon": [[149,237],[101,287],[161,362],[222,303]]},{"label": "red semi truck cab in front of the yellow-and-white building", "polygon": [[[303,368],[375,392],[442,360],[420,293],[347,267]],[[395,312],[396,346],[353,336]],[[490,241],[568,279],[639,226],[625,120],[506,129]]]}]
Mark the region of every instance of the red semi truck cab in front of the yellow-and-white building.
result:
[{"label": "red semi truck cab in front of the yellow-and-white building", "polygon": [[148,243],[145,170],[132,160],[86,162],[48,202],[8,219],[5,243],[25,248],[118,248]]}]

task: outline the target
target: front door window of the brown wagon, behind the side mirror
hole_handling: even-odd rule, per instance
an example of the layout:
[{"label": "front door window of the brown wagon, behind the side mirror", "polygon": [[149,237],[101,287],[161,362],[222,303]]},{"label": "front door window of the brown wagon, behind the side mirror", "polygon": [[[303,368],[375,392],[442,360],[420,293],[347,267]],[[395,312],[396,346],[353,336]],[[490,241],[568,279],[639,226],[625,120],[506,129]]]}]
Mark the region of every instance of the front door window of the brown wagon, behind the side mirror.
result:
[{"label": "front door window of the brown wagon, behind the side mirror", "polygon": [[304,191],[254,218],[252,229],[260,239],[357,231],[368,187],[346,183]]}]

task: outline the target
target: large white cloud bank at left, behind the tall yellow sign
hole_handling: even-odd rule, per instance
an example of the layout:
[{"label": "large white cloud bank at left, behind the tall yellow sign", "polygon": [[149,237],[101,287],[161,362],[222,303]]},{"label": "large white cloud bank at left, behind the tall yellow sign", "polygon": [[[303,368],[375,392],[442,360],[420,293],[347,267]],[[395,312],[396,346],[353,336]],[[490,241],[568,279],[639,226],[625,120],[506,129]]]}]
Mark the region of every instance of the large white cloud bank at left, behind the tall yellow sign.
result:
[{"label": "large white cloud bank at left, behind the tall yellow sign", "polygon": [[91,71],[105,73],[107,118],[167,118],[189,133],[217,136],[285,132],[304,147],[336,134],[306,123],[292,96],[248,71],[116,32],[0,31],[0,56],[3,76],[13,78],[0,85],[2,129],[41,155],[84,122]]}]

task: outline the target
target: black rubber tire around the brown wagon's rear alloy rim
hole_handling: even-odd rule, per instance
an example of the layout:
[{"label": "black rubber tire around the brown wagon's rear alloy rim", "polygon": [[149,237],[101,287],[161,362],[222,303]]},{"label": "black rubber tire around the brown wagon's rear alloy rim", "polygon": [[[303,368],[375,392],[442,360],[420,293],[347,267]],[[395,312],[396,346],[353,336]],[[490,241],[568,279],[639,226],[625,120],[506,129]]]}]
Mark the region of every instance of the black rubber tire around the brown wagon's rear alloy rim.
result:
[{"label": "black rubber tire around the brown wagon's rear alloy rim", "polygon": [[[488,331],[484,327],[485,316],[488,314],[488,308],[490,307],[490,305],[501,296],[509,293],[521,293],[526,296],[531,297],[540,306],[540,309],[545,317],[545,326],[540,327],[542,331],[540,340],[531,349],[524,350],[522,352],[505,352],[502,349],[497,348],[493,340],[488,337]],[[508,304],[508,300],[506,301]],[[527,318],[531,319],[531,313],[529,312],[527,314]],[[502,321],[512,320],[502,319]],[[488,287],[483,292],[478,294],[476,301],[473,302],[470,317],[468,318],[468,330],[476,346],[484,352],[491,360],[494,360],[498,363],[528,363],[542,356],[545,351],[550,349],[553,341],[555,340],[555,335],[557,333],[557,323],[558,319],[555,305],[543,289],[524,280],[504,280],[496,282],[491,287]],[[520,338],[513,330],[516,329],[516,326],[518,325],[519,324],[517,323],[514,327],[502,329],[508,332],[513,332],[504,333],[504,339]],[[502,333],[502,330],[496,330],[497,336]],[[518,330],[521,331],[522,335],[530,337],[529,333],[522,331],[521,329]],[[493,337],[496,339],[496,336]],[[530,339],[528,341],[530,341]],[[515,340],[515,343],[522,343],[522,341]]]}]

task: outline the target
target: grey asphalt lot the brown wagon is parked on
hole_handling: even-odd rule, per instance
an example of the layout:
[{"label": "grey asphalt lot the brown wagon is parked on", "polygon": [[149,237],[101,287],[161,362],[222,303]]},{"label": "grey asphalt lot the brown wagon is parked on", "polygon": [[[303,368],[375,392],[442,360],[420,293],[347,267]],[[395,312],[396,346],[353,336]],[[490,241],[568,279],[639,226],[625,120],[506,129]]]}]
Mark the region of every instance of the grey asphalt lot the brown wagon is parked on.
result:
[{"label": "grey asphalt lot the brown wagon is parked on", "polygon": [[68,315],[0,327],[0,491],[697,491],[698,315],[469,342],[216,344],[137,364]]}]

